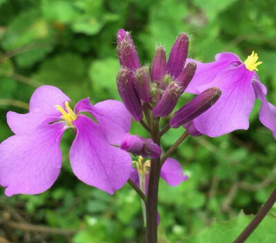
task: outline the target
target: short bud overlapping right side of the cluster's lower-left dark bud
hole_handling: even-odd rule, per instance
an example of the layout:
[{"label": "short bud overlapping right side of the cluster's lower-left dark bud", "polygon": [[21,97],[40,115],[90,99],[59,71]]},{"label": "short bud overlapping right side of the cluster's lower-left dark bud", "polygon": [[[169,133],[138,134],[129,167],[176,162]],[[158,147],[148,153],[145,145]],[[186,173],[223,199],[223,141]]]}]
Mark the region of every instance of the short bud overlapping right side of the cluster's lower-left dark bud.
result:
[{"label": "short bud overlapping right side of the cluster's lower-left dark bud", "polygon": [[148,66],[136,70],[135,88],[139,99],[148,103],[150,101],[150,71]]}]

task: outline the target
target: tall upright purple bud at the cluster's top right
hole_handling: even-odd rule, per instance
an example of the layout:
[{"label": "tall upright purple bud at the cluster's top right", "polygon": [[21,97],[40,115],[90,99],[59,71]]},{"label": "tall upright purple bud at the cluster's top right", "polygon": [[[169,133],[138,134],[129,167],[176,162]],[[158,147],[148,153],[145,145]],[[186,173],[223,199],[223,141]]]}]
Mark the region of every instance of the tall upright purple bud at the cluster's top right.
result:
[{"label": "tall upright purple bud at the cluster's top right", "polygon": [[189,38],[186,33],[181,33],[170,50],[167,73],[176,78],[184,68],[188,55]]}]

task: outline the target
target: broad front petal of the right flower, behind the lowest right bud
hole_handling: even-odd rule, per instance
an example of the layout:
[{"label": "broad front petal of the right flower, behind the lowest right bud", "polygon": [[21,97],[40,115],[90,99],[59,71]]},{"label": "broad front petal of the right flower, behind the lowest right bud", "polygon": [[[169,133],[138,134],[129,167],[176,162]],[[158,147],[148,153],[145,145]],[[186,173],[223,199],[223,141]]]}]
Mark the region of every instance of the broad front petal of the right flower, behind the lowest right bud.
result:
[{"label": "broad front petal of the right flower, behind the lowest right bud", "polygon": [[248,117],[255,101],[251,84],[253,75],[254,72],[247,70],[243,64],[219,72],[213,82],[201,86],[202,90],[218,87],[221,97],[214,106],[194,119],[195,128],[209,137],[217,137],[237,129],[248,129]]}]

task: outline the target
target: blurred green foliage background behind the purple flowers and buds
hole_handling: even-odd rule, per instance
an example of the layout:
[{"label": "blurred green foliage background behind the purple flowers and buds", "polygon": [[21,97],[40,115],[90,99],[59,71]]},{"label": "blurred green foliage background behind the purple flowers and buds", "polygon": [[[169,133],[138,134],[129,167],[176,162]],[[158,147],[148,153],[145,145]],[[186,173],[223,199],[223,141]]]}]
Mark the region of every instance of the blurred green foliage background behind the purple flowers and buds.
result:
[{"label": "blurred green foliage background behind the purple flowers and buds", "polygon": [[[255,50],[263,61],[258,74],[268,100],[276,104],[275,12],[275,0],[0,0],[0,139],[12,135],[6,112],[26,113],[41,84],[61,88],[73,103],[88,96],[93,103],[120,99],[115,84],[119,28],[131,30],[142,64],[152,61],[157,43],[169,52],[179,32],[188,32],[189,57],[201,61],[212,61],[217,52],[246,59]],[[178,106],[188,99],[181,97]],[[259,106],[256,101],[249,130],[215,139],[190,137],[179,146],[173,157],[190,179],[174,188],[160,184],[160,242],[201,242],[197,232],[202,242],[232,242],[230,234],[237,236],[250,218],[241,209],[255,214],[266,201],[275,186],[276,144],[259,123]],[[164,148],[181,132],[170,130]],[[137,125],[132,133],[146,135]],[[142,242],[139,197],[128,184],[110,196],[79,182],[68,162],[72,139],[70,132],[63,136],[62,172],[49,191],[8,198],[1,188],[0,242]],[[273,215],[276,208],[264,222],[266,235],[275,228]],[[65,231],[22,231],[12,222]],[[228,233],[219,228],[227,225],[241,226]],[[224,240],[210,240],[207,231],[221,232]],[[248,242],[274,242],[275,236],[266,241],[262,232]]]}]

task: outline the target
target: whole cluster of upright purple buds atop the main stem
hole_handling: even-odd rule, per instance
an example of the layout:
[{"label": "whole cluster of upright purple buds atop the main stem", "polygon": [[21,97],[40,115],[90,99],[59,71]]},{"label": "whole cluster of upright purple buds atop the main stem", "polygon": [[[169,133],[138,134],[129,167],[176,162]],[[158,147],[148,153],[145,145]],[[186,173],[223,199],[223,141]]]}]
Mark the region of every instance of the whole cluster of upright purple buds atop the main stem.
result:
[{"label": "whole cluster of upright purple buds atop the main stem", "polygon": [[[117,75],[117,88],[128,112],[136,121],[143,119],[143,104],[152,107],[155,117],[167,117],[193,79],[197,64],[186,64],[189,39],[181,33],[172,46],[168,61],[163,46],[157,46],[151,69],[141,66],[137,50],[129,32],[117,33],[117,51],[121,70]],[[221,92],[210,88],[178,110],[170,121],[176,128],[204,113],[219,98]]]}]

